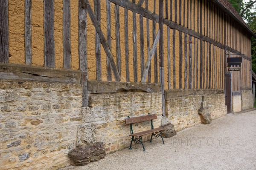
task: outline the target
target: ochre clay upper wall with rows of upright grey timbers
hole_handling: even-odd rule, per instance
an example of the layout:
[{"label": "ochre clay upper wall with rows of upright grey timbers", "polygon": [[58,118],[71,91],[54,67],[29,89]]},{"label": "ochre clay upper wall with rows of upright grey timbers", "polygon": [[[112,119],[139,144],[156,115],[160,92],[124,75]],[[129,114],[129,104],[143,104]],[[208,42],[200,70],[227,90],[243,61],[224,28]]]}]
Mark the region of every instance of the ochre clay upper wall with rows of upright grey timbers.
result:
[{"label": "ochre clay upper wall with rows of upright grey timbers", "polygon": [[[81,69],[78,50],[81,18],[77,17],[83,15],[78,10],[81,1],[80,5],[73,0],[25,2],[8,3],[9,63]],[[159,1],[88,0],[88,3],[112,52],[120,81],[140,82],[159,30]],[[51,8],[54,12],[49,11]],[[44,18],[47,10],[49,15]],[[164,0],[162,12],[165,89],[223,89],[225,45],[226,50],[244,57],[243,74],[233,74],[233,91],[250,86],[250,35],[215,3]],[[151,83],[160,83],[158,41],[156,44],[145,75],[146,82]],[[87,67],[89,80],[115,81],[89,14]],[[246,81],[238,79],[241,75]]]}]

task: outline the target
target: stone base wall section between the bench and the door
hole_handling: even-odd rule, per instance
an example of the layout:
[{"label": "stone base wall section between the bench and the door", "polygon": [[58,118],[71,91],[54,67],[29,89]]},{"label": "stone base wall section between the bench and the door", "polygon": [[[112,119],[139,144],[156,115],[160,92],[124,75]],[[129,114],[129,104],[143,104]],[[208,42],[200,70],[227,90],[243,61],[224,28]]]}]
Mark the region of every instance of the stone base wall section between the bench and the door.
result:
[{"label": "stone base wall section between the bench and the door", "polygon": [[[211,118],[219,118],[227,114],[224,94],[204,95]],[[166,99],[166,116],[174,124],[175,130],[180,131],[188,127],[201,124],[198,110],[201,108],[202,95],[186,95]]]}]

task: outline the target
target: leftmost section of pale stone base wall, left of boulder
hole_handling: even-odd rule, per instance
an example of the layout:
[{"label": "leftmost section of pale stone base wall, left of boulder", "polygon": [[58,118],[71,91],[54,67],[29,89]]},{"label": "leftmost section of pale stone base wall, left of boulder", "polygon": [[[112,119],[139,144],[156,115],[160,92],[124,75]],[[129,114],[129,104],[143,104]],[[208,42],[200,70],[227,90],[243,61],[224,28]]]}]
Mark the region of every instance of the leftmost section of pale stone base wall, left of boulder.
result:
[{"label": "leftmost section of pale stone base wall, left of boulder", "polygon": [[69,165],[81,101],[80,84],[0,81],[0,169]]}]

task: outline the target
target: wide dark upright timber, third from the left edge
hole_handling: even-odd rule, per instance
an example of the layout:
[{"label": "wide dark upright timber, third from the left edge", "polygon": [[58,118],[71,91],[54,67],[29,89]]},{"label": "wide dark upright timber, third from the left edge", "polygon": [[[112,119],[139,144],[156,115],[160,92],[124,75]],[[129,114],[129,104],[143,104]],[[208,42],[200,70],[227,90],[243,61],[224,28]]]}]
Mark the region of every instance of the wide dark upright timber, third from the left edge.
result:
[{"label": "wide dark upright timber, third from the left edge", "polygon": [[44,1],[44,66],[55,66],[54,0]]}]

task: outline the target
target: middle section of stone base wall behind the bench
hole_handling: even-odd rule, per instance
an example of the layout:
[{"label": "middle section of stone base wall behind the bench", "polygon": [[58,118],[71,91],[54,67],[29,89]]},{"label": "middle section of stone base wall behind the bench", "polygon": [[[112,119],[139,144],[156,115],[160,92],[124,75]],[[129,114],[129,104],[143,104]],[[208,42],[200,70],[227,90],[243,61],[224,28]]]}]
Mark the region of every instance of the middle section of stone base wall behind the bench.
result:
[{"label": "middle section of stone base wall behind the bench", "polygon": [[[105,144],[106,153],[129,147],[130,126],[127,116],[157,114],[154,127],[161,125],[162,95],[160,92],[119,92],[89,96],[89,108],[83,108],[83,124],[78,129],[77,145],[95,142]],[[134,133],[150,129],[150,121],[134,124]],[[149,140],[150,135],[143,140]]]}]

